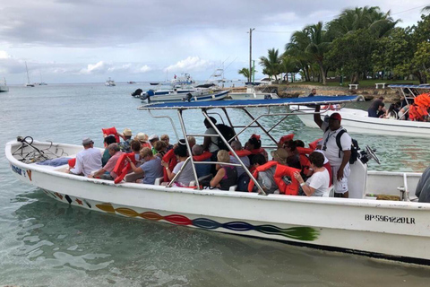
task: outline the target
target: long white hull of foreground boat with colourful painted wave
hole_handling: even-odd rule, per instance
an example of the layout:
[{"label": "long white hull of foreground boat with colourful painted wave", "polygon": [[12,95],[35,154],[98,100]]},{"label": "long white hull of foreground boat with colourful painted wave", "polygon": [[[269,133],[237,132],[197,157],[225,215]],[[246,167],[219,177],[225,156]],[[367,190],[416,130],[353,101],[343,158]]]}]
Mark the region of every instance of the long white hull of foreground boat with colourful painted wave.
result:
[{"label": "long white hull of foreground boat with colourful painted wave", "polygon": [[[48,143],[47,143],[48,144]],[[336,248],[376,257],[428,264],[430,262],[430,204],[193,190],[112,181],[65,173],[65,167],[47,167],[18,161],[11,151],[19,143],[6,144],[13,174],[40,187],[47,196],[64,204],[126,217],[275,239],[314,248]],[[53,145],[73,155],[79,146]],[[57,148],[59,147],[59,148]],[[101,152],[101,151],[100,151]],[[419,174],[411,174],[415,190]],[[366,185],[386,190],[402,183],[402,173],[369,173]],[[396,180],[393,180],[393,179]],[[384,181],[382,181],[384,179]],[[391,192],[396,187],[391,186]],[[387,243],[388,242],[388,243]]]}]

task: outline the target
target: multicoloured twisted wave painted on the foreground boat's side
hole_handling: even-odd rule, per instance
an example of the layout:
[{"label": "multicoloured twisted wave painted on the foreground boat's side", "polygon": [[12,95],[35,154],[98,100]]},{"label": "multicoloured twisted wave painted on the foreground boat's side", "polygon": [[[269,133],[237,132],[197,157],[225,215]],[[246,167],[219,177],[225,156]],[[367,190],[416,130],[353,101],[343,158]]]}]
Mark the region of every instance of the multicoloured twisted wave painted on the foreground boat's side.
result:
[{"label": "multicoloured twisted wave painted on the foreground boat's side", "polygon": [[287,229],[280,229],[277,226],[271,224],[253,225],[247,222],[226,222],[219,223],[207,218],[196,218],[189,219],[184,215],[170,214],[162,216],[159,213],[145,212],[137,213],[131,208],[118,207],[114,208],[112,204],[96,204],[96,206],[107,213],[120,213],[128,217],[142,217],[143,219],[150,221],[167,221],[176,225],[192,225],[194,227],[202,228],[205,230],[216,230],[219,228],[225,228],[234,231],[249,231],[255,230],[264,234],[280,235],[288,239],[297,239],[302,241],[314,241],[318,239],[319,232],[311,227],[299,226],[291,227]]}]

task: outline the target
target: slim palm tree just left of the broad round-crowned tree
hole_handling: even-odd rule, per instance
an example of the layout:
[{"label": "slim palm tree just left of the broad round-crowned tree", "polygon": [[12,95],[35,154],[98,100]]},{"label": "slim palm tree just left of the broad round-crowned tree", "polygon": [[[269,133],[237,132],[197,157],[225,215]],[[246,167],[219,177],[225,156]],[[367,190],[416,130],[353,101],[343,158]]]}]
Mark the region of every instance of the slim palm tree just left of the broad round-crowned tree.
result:
[{"label": "slim palm tree just left of the broad round-crowned tree", "polygon": [[318,22],[316,25],[307,26],[309,31],[310,43],[305,51],[314,57],[316,64],[320,67],[320,74],[323,80],[323,85],[326,84],[325,67],[323,65],[324,53],[330,48],[330,42],[326,40],[325,30],[323,30],[323,22]]}]

